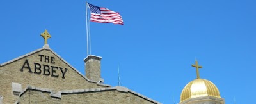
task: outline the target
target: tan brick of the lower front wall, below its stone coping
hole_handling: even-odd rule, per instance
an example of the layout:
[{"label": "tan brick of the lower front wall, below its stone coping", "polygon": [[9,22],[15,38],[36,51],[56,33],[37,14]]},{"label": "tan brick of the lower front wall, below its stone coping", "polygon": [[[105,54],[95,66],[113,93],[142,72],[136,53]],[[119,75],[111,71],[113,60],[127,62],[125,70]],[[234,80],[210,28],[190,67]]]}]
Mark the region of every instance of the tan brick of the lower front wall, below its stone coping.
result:
[{"label": "tan brick of the lower front wall, below its stone coping", "polygon": [[19,103],[120,103],[120,104],[152,104],[152,101],[145,100],[132,93],[124,93],[116,90],[95,91],[90,93],[67,93],[61,98],[52,98],[49,92],[29,89],[20,96]]}]

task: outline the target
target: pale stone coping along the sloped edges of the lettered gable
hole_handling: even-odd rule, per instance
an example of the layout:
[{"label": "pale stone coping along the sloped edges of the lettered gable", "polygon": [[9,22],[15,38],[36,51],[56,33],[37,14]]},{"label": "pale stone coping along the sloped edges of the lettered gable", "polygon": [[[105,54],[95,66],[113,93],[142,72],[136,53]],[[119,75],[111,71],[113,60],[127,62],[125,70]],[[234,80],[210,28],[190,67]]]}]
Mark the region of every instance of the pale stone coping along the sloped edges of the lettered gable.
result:
[{"label": "pale stone coping along the sloped edges of the lettered gable", "polygon": [[[87,77],[85,77],[85,76],[84,76],[83,74],[81,74],[81,72],[79,72],[76,68],[74,68],[74,67],[73,67],[72,65],[70,65],[67,61],[65,61],[63,58],[61,58],[60,55],[58,55],[57,53],[55,53],[54,51],[52,51],[52,49],[49,47],[48,44],[45,44],[45,45],[43,46],[43,48],[36,49],[35,51],[31,51],[30,53],[27,53],[27,54],[25,54],[25,55],[22,55],[22,56],[19,56],[19,57],[17,57],[17,58],[14,58],[14,59],[12,59],[12,60],[10,60],[10,61],[8,61],[8,62],[4,62],[4,63],[0,64],[0,67],[3,67],[4,65],[8,65],[9,63],[15,62],[15,61],[17,61],[17,60],[20,60],[21,58],[24,58],[24,57],[29,56],[29,55],[33,55],[34,53],[38,53],[39,51],[43,51],[43,50],[49,50],[49,51],[51,51],[54,55],[58,56],[58,58],[60,58],[61,61],[63,61],[64,63],[66,63],[66,64],[68,65],[68,67],[73,68],[73,69],[77,72],[77,74],[81,75],[81,77],[83,77],[84,79],[86,79],[86,81],[88,81],[88,82],[93,82],[93,83],[97,83],[97,82],[92,81],[92,80],[88,79]],[[102,83],[97,83],[97,85],[110,87],[110,85],[108,85],[108,84],[102,84]]]}]

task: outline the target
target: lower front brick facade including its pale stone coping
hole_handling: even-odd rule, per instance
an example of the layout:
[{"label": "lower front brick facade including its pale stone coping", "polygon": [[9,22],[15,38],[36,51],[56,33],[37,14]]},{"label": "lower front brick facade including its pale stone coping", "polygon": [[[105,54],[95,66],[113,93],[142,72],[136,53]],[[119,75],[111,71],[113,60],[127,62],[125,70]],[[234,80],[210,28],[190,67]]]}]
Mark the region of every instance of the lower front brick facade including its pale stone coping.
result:
[{"label": "lower front brick facade including its pale stone coping", "polygon": [[16,103],[157,103],[130,89],[122,89],[124,87],[116,86],[54,92],[51,89],[28,87],[20,93],[20,100]]}]

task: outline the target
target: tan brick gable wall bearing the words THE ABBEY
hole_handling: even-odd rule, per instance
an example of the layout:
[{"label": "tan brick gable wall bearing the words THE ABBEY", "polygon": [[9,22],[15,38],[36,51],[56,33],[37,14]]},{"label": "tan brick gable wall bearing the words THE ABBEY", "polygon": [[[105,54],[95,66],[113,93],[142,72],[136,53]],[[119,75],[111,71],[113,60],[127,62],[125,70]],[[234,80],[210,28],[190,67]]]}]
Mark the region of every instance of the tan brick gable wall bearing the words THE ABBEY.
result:
[{"label": "tan brick gable wall bearing the words THE ABBEY", "polygon": [[15,91],[15,89],[25,89],[27,86],[52,90],[108,86],[90,81],[58,54],[45,47],[10,60],[0,66],[0,96],[10,96],[4,97],[4,103],[14,103],[6,101],[17,100],[18,97],[15,93],[19,94],[19,91]]}]

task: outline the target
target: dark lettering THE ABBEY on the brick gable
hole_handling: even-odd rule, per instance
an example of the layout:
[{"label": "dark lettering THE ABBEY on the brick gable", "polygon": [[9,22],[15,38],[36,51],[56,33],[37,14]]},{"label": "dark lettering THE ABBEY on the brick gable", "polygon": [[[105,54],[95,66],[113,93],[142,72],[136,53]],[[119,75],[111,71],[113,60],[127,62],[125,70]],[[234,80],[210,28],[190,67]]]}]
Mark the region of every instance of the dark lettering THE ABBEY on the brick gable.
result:
[{"label": "dark lettering THE ABBEY on the brick gable", "polygon": [[[42,58],[44,59],[45,63],[52,63],[54,64],[54,57],[50,57],[50,56],[44,56],[44,55],[38,55],[40,56],[40,62],[42,61]],[[49,58],[51,58],[49,60]],[[28,69],[28,72],[33,73],[31,70],[31,67],[29,65],[28,59],[26,59],[26,61],[24,62],[22,68],[20,68],[20,71],[23,72],[24,68]],[[51,75],[52,77],[59,77],[59,74],[56,74],[56,71],[59,70],[61,71],[62,74],[62,78],[65,79],[65,74],[67,72],[67,68],[61,68],[61,67],[54,67],[54,66],[49,66],[49,65],[41,65],[40,63],[34,63],[34,74],[41,74],[43,73],[43,75]]]}]

